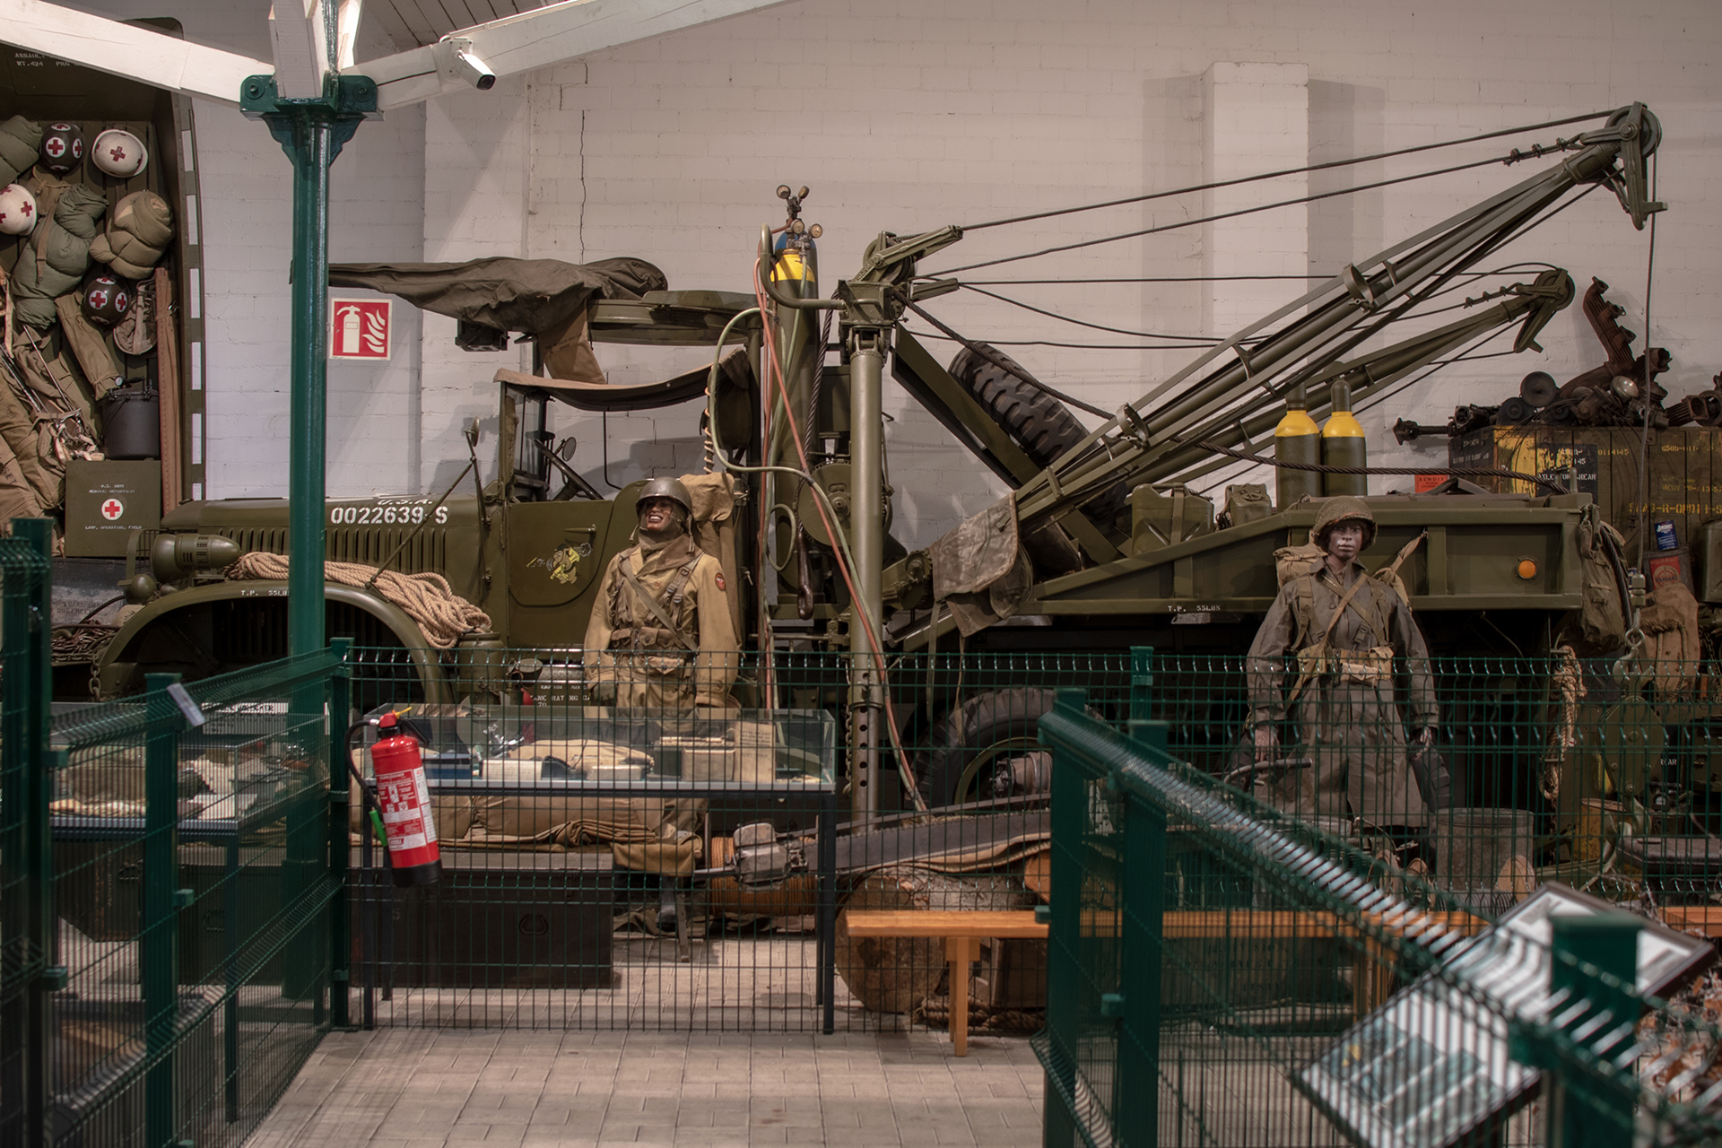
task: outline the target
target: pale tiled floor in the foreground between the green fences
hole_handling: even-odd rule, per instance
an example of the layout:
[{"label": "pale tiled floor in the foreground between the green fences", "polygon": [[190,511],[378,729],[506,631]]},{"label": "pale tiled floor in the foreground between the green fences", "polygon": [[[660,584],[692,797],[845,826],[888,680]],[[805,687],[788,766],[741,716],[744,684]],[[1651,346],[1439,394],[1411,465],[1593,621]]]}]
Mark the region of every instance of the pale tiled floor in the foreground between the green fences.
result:
[{"label": "pale tiled floor in the foreground between the green fences", "polygon": [[1040,1145],[1023,1038],[332,1033],[246,1148]]}]

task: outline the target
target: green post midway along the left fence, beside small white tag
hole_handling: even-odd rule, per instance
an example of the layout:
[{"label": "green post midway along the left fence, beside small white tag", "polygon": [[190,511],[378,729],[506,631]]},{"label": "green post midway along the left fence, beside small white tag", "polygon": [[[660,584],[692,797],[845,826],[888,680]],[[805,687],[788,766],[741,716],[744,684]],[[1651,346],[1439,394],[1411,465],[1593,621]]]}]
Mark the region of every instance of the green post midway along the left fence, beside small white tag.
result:
[{"label": "green post midway along the left fence, beside small white tag", "polygon": [[[150,723],[143,759],[143,931],[138,971],[143,983],[145,1145],[167,1148],[174,1134],[174,1036],[179,1019],[179,707],[167,687],[177,673],[143,680]],[[176,721],[177,719],[177,721]]]}]

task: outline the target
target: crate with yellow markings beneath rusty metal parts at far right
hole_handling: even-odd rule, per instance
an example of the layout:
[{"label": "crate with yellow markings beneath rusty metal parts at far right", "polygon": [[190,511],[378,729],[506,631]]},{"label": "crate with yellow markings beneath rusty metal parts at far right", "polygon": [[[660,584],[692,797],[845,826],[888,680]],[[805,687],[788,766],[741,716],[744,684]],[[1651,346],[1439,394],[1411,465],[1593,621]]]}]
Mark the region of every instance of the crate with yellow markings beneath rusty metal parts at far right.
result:
[{"label": "crate with yellow markings beneath rusty metal parts at far right", "polygon": [[[1576,460],[1579,491],[1593,496],[1603,516],[1626,535],[1627,563],[1638,563],[1639,458],[1643,430],[1631,427],[1486,427],[1448,441],[1453,466],[1502,466],[1524,473],[1555,475]],[[1650,432],[1648,520],[1672,522],[1682,547],[1698,540],[1698,527],[1722,516],[1722,430],[1669,427]],[[1474,478],[1488,491],[1531,494],[1538,487],[1519,478]],[[1655,549],[1651,530],[1650,549]]]}]

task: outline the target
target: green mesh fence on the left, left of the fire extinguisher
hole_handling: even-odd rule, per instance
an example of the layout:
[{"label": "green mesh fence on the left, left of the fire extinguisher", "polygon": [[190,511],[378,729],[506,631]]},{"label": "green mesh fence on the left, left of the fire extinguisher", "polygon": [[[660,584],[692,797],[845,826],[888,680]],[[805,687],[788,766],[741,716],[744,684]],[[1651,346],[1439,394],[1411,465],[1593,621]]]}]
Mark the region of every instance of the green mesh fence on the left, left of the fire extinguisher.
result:
[{"label": "green mesh fence on the left, left of the fire extinguisher", "polygon": [[238,1145],[346,1022],[344,642],[50,719],[33,530],[0,540],[0,1139]]}]

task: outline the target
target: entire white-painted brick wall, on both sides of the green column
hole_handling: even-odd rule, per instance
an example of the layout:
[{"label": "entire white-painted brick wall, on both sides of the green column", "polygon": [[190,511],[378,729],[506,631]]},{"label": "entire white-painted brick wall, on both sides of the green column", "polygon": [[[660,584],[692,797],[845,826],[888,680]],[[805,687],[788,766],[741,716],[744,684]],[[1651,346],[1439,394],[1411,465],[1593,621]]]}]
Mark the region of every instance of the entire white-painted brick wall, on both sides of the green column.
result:
[{"label": "entire white-painted brick wall, on both sides of the green column", "polygon": [[[110,0],[108,7],[121,3]],[[243,31],[231,15],[239,5],[150,5],[152,12],[176,7],[208,14],[203,22],[183,17],[195,38],[231,41]],[[263,7],[257,0],[253,10]],[[677,287],[746,289],[759,224],[780,220],[773,188],[806,182],[813,188],[808,219],[827,229],[821,268],[830,286],[854,270],[861,250],[882,229],[916,232],[1199,182],[1207,162],[1202,76],[1217,62],[1307,69],[1312,160],[1645,100],[1667,129],[1660,196],[1670,203],[1658,222],[1650,337],[1672,349],[1676,368],[1667,386],[1682,396],[1708,386],[1722,367],[1715,322],[1722,287],[1712,274],[1722,255],[1722,158],[1710,139],[1722,93],[1719,48],[1722,5],[1713,0],[1658,0],[1631,12],[1608,0],[1448,0],[1415,10],[1379,0],[1092,0],[1080,7],[1028,0],[801,0],[544,69],[529,83],[437,100],[424,119],[424,158],[417,167],[405,139],[415,127],[401,122],[406,117],[394,115],[381,129],[367,124],[350,146],[377,148],[377,160],[367,165],[355,151],[341,158],[338,181],[367,174],[367,182],[339,184],[351,198],[338,205],[336,219],[374,220],[369,232],[346,232],[350,241],[369,244],[370,258],[382,258],[384,248],[393,258],[639,255],[660,263]],[[281,484],[279,458],[270,453],[279,437],[258,432],[250,442],[243,435],[269,423],[269,403],[276,401],[270,396],[279,394],[272,387],[284,389],[286,160],[262,127],[238,122],[236,115],[232,120],[205,115],[201,145],[210,205],[217,494],[263,492]],[[1577,129],[1534,138],[1548,141]],[[389,141],[389,131],[401,138]],[[1309,189],[1331,191],[1488,158],[1503,146],[1490,141],[1317,172]],[[220,148],[227,148],[226,157]],[[394,170],[394,164],[405,170]],[[1261,220],[1276,229],[1262,234],[1262,244],[1307,250],[1309,267],[1331,274],[1505,188],[1526,170],[1479,167],[1324,200],[1302,213],[1279,212]],[[393,225],[412,219],[418,184],[422,255],[406,234],[410,227]],[[367,196],[375,203],[363,207]],[[1164,225],[1200,212],[1202,196],[1185,194],[975,231],[928,260],[926,270]],[[1614,286],[1612,298],[1627,306],[1624,322],[1643,332],[1646,255],[1646,234],[1634,232],[1612,196],[1598,191],[1515,243],[1498,265],[1553,262],[1567,267],[1581,287],[1600,275]],[[1200,229],[1185,229],[964,277],[1195,277],[1204,258]],[[1214,334],[1204,322],[1214,299],[1199,282],[999,291],[1106,327]],[[1236,298],[1248,296],[1266,312],[1300,291],[1297,282],[1285,282],[1283,294],[1273,284],[1242,284]],[[1142,394],[1192,356],[971,293],[938,299],[933,310],[961,330],[995,341],[1142,344],[1126,351],[1007,348],[1047,382],[1102,408]],[[418,470],[425,487],[463,461],[460,420],[494,411],[487,379],[503,358],[453,351],[451,327],[448,320],[427,320],[420,351]],[[1374,458],[1438,461],[1445,458],[1443,441],[1402,449],[1386,427],[1398,417],[1440,423],[1455,403],[1510,394],[1527,370],[1546,368],[1565,379],[1601,360],[1576,306],[1545,330],[1543,344],[1545,355],[1455,367],[1415,392],[1364,411]],[[949,344],[935,346],[949,358]],[[410,365],[400,367],[410,375]],[[639,355],[610,349],[606,367],[618,379],[641,379],[647,370]],[[412,425],[412,415],[403,417],[382,394],[400,387],[410,398],[410,387],[377,382],[372,401],[353,399],[355,425],[332,427],[332,435],[344,434],[356,446],[332,449],[338,472],[331,491],[338,487],[336,473],[339,482],[356,485],[370,444]],[[227,406],[217,406],[222,392]],[[279,394],[279,410],[284,404]],[[990,477],[959,456],[945,432],[894,387],[887,387],[887,411],[895,420],[887,439],[901,496],[899,537],[925,544],[997,496]],[[579,435],[577,465],[601,485],[599,420],[563,413],[560,430]],[[608,454],[610,477],[618,484],[687,466],[697,460],[692,411],[611,418]],[[1383,480],[1376,489],[1390,487]]]}]

